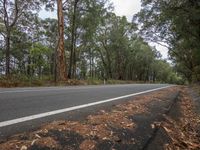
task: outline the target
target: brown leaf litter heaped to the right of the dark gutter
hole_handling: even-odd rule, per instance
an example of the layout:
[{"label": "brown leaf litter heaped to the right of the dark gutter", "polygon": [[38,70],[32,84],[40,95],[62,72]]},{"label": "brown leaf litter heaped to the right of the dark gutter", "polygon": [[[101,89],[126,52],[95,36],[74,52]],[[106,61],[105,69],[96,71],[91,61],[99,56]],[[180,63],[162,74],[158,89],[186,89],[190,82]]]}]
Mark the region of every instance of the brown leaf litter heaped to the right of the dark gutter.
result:
[{"label": "brown leaf litter heaped to the right of the dark gutter", "polygon": [[178,119],[165,116],[165,121],[160,123],[171,139],[164,146],[166,150],[200,149],[200,116],[195,113],[194,101],[187,91],[187,87],[182,87],[177,101],[182,116]]}]

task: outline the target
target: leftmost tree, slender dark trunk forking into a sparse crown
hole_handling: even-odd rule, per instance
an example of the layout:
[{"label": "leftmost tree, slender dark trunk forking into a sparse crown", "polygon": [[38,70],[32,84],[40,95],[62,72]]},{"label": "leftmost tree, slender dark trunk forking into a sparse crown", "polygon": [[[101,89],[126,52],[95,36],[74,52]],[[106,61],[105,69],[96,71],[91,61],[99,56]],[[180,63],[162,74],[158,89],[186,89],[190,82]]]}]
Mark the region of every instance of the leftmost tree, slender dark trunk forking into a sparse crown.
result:
[{"label": "leftmost tree, slender dark trunk forking into a sparse crown", "polygon": [[26,13],[40,8],[39,0],[1,0],[0,20],[5,27],[6,75],[10,74],[11,32],[16,24],[26,18]]}]

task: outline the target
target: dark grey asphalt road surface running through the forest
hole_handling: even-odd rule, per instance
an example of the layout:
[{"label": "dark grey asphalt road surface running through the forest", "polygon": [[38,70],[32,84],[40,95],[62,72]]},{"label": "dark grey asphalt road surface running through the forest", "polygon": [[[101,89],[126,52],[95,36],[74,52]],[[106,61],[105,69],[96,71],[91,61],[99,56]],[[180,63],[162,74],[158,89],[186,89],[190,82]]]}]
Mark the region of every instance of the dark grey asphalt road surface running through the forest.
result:
[{"label": "dark grey asphalt road surface running through the forest", "polygon": [[[98,103],[107,99],[167,86],[169,85],[129,84],[79,87],[0,88],[0,136],[11,135],[11,133],[15,133],[17,128],[24,128],[25,125],[29,126],[32,124],[26,124],[26,120],[23,121],[23,117],[29,116],[30,118],[32,115],[84,104],[94,103],[95,105],[95,102]],[[119,100],[122,98],[119,98]],[[56,120],[57,115],[51,115],[52,117]],[[12,120],[20,118],[22,118],[20,123],[12,122]],[[45,118],[43,117],[38,120],[43,120],[41,122],[44,123]],[[12,122],[11,125],[2,125],[10,120]],[[9,134],[6,134],[6,132],[9,132]]]}]

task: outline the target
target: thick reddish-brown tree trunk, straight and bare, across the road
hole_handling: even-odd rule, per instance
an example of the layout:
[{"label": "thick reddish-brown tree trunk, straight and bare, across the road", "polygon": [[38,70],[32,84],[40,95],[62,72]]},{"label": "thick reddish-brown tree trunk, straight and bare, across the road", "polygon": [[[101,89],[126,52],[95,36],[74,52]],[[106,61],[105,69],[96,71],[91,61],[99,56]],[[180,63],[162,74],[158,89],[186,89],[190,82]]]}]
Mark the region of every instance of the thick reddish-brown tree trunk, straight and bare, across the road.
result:
[{"label": "thick reddish-brown tree trunk, straight and bare, across the road", "polygon": [[67,79],[64,51],[64,16],[62,0],[57,0],[58,15],[58,47],[57,47],[57,77],[59,81]]}]

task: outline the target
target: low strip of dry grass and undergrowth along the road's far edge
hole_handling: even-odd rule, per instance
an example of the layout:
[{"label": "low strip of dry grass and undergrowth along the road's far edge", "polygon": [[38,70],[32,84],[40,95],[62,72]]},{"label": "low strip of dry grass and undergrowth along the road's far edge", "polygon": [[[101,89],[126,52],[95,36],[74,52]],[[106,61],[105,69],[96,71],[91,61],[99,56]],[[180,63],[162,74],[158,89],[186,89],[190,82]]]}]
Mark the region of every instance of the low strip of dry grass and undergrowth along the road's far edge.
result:
[{"label": "low strip of dry grass and undergrowth along the road's far edge", "polygon": [[[68,79],[67,81],[54,82],[49,76],[40,78],[28,78],[26,76],[12,75],[9,78],[2,76],[0,78],[0,87],[40,87],[40,86],[74,86],[74,85],[104,85],[104,84],[134,84],[134,83],[147,83],[144,81],[131,81],[131,80],[101,80],[88,78],[85,80]],[[152,83],[152,82],[148,82]],[[157,83],[157,82],[154,82]]]}]

